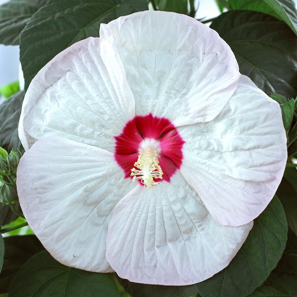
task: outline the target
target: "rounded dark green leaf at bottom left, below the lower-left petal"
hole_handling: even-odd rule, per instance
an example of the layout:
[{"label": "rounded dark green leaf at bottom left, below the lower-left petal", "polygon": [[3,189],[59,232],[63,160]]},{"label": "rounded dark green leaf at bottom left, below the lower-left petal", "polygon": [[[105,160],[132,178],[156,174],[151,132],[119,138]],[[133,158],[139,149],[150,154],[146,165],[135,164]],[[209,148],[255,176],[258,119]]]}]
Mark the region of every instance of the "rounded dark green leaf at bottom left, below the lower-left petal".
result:
[{"label": "rounded dark green leaf at bottom left, below the lower-left petal", "polygon": [[23,265],[12,281],[8,296],[120,297],[120,292],[110,274],[64,266],[42,251]]}]

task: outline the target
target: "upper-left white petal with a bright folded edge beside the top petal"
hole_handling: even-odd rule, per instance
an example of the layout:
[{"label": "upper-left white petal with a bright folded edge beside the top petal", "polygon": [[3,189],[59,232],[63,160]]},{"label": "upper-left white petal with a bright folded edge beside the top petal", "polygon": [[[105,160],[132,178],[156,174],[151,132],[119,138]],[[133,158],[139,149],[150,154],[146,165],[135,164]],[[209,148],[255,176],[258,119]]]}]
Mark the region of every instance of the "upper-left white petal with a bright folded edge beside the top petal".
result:
[{"label": "upper-left white petal with a bright folded edge beside the top petal", "polygon": [[57,135],[113,151],[114,136],[135,116],[133,94],[108,42],[88,38],[63,50],[32,80],[19,136],[27,150]]}]

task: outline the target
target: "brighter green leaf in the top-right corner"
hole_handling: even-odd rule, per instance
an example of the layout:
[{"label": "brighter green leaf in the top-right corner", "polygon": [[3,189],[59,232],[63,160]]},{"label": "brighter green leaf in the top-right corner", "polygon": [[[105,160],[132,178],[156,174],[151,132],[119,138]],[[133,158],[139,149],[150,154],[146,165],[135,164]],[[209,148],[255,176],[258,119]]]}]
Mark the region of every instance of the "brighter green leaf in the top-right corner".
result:
[{"label": "brighter green leaf in the top-right corner", "polygon": [[253,10],[283,20],[297,35],[297,15],[292,0],[229,0],[229,9]]}]

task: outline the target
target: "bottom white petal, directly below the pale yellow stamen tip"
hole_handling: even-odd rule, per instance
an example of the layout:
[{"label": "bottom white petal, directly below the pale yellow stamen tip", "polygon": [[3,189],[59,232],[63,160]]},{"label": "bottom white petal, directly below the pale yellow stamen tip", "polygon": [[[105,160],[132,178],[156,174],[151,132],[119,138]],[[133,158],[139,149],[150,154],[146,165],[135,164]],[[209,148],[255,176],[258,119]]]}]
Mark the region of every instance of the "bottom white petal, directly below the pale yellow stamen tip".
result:
[{"label": "bottom white petal, directly below the pale yellow stamen tip", "polygon": [[153,189],[138,185],[116,206],[108,227],[106,257],[132,282],[189,285],[226,267],[253,222],[217,224],[179,172]]}]

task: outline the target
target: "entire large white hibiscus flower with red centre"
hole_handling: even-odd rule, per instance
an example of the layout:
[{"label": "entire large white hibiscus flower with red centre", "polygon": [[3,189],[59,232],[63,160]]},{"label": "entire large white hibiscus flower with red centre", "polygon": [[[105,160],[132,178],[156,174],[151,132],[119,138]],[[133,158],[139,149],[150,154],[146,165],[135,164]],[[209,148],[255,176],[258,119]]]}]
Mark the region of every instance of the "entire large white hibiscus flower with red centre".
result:
[{"label": "entire large white hibiscus flower with red centre", "polygon": [[188,285],[226,267],[285,168],[277,102],[193,18],[138,12],[32,80],[17,188],[61,263]]}]

